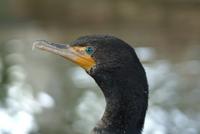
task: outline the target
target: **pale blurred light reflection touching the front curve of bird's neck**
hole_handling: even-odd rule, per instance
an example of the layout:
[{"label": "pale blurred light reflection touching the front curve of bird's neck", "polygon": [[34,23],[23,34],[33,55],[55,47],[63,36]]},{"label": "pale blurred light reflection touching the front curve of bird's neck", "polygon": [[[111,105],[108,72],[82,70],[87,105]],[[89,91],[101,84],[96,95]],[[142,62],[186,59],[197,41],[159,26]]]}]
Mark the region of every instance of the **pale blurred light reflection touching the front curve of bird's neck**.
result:
[{"label": "pale blurred light reflection touching the front curve of bird's neck", "polygon": [[[78,133],[89,133],[96,122],[104,112],[104,99],[94,91],[86,91],[79,99],[79,105],[76,107],[77,120],[73,128]],[[76,129],[79,128],[79,129]]]}]

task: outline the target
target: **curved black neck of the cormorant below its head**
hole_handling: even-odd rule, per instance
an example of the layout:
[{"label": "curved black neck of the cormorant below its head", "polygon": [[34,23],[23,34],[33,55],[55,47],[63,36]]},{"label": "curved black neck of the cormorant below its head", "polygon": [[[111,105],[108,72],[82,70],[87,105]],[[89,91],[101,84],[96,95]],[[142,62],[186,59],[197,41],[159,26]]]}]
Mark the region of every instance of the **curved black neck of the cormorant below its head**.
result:
[{"label": "curved black neck of the cormorant below its head", "polygon": [[105,96],[106,109],[94,131],[101,131],[100,134],[140,134],[148,103],[145,73],[138,76],[133,70],[120,69],[100,74],[103,75],[97,75],[95,80]]}]

